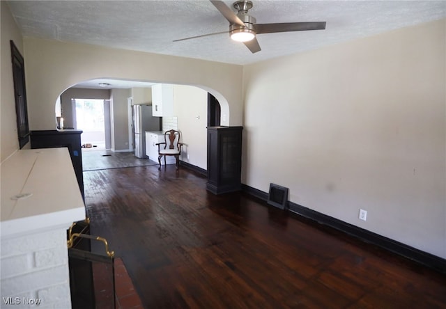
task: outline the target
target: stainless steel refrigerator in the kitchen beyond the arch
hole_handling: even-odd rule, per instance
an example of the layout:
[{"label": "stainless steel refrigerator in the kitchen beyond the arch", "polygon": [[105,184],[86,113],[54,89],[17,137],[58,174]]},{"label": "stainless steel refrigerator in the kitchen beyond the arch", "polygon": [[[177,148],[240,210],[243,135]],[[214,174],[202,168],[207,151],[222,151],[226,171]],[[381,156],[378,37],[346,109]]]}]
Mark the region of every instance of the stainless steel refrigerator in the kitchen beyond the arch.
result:
[{"label": "stainless steel refrigerator in the kitchen beyond the arch", "polygon": [[132,105],[134,156],[147,158],[146,131],[160,131],[160,117],[152,116],[151,105]]}]

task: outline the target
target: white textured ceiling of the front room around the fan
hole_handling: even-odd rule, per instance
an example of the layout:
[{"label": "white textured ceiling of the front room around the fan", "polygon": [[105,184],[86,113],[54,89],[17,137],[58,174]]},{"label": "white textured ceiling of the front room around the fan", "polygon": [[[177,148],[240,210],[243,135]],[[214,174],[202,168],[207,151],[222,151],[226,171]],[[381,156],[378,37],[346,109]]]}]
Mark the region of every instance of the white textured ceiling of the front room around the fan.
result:
[{"label": "white textured ceiling of the front room around the fan", "polygon": [[[224,1],[230,8],[233,1]],[[446,1],[254,0],[261,24],[327,22],[325,30],[258,35],[251,54],[224,33],[229,23],[207,0],[8,1],[25,36],[248,64],[446,17]],[[235,10],[234,10],[235,11]]]}]

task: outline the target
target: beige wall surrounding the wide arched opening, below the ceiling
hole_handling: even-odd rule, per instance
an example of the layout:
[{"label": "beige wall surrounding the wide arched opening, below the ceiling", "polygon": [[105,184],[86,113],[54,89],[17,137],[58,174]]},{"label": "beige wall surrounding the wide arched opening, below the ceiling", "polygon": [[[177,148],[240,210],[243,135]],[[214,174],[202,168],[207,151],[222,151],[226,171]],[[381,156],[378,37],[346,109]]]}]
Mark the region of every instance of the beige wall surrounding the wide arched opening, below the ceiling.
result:
[{"label": "beige wall surrounding the wide arched opening, below the ceiling", "polygon": [[24,38],[30,127],[54,129],[54,102],[70,86],[94,78],[201,86],[222,104],[222,123],[241,125],[243,67],[191,58]]}]

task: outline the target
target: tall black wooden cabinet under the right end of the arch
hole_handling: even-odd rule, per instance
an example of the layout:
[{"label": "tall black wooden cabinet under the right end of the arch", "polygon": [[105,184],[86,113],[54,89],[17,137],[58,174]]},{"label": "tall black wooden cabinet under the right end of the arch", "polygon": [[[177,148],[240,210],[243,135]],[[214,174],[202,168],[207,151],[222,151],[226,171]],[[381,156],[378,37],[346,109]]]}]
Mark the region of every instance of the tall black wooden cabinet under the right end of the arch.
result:
[{"label": "tall black wooden cabinet under the right end of the arch", "polygon": [[208,127],[208,183],[214,194],[239,191],[243,127]]}]

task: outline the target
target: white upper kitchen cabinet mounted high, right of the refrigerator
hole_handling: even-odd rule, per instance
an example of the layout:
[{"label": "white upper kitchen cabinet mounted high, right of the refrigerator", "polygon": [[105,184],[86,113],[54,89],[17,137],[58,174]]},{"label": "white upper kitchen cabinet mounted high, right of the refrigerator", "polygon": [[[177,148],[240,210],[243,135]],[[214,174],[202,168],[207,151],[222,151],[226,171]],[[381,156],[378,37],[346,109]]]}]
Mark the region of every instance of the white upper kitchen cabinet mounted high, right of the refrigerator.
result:
[{"label": "white upper kitchen cabinet mounted high, right of the refrigerator", "polygon": [[152,86],[152,114],[157,117],[174,116],[174,85]]}]

